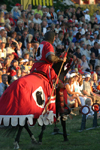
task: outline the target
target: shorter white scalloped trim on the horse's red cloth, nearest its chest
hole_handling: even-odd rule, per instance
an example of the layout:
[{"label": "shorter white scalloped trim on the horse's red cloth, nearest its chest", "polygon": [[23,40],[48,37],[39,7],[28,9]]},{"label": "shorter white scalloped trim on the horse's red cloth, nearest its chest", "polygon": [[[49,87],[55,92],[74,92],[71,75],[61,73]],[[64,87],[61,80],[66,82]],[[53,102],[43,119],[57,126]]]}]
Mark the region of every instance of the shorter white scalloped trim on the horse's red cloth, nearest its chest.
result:
[{"label": "shorter white scalloped trim on the horse's red cloth, nearest its chest", "polygon": [[56,118],[56,114],[53,113],[53,111],[47,112],[45,115],[40,115],[38,118],[38,124],[40,126],[45,125],[51,125],[54,123],[54,117]]}]

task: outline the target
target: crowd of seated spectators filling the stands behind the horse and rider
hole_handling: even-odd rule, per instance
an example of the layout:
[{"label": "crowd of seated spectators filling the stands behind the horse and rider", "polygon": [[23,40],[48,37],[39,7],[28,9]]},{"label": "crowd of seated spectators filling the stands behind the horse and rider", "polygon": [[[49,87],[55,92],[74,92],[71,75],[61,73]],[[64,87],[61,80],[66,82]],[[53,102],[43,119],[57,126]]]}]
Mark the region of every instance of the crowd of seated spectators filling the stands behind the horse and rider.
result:
[{"label": "crowd of seated spectators filling the stands behind the horse and rider", "polygon": [[0,97],[15,80],[30,73],[39,44],[55,32],[55,55],[67,51],[74,65],[66,74],[68,103],[74,107],[95,102],[100,92],[100,15],[89,9],[37,6],[26,10],[17,3],[10,12],[0,5]]}]

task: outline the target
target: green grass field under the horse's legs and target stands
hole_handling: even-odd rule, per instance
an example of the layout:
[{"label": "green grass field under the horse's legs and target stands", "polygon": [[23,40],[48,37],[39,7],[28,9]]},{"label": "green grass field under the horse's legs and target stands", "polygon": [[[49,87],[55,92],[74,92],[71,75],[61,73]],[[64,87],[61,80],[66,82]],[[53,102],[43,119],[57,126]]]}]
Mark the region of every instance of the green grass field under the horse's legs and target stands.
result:
[{"label": "green grass field under the horse's legs and target stands", "polygon": [[[88,119],[86,128],[92,127],[92,119]],[[100,120],[98,119],[98,125]],[[68,135],[68,142],[63,141],[62,135],[51,135],[54,125],[47,126],[44,132],[42,145],[33,145],[28,133],[23,129],[20,139],[21,150],[100,150],[100,128],[93,130],[78,132],[81,126],[81,115],[74,116],[72,120],[66,121],[66,129]],[[62,131],[60,123],[57,127]],[[38,140],[40,127],[36,124],[35,127],[30,128],[34,136]],[[15,137],[4,137],[3,130],[0,130],[0,150],[13,150],[13,142]]]}]

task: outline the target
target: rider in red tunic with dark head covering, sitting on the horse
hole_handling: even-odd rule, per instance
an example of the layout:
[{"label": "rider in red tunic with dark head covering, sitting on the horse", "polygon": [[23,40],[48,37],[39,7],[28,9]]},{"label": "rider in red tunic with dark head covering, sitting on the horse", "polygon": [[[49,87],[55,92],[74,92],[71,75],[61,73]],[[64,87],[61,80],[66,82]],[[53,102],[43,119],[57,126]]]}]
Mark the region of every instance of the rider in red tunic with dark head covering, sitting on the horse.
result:
[{"label": "rider in red tunic with dark head covering, sitting on the horse", "polygon": [[[31,69],[32,72],[37,72],[42,75],[45,75],[53,86],[53,83],[57,79],[57,74],[55,73],[52,65],[57,62],[66,62],[66,57],[59,58],[55,55],[54,48],[52,44],[55,40],[55,33],[49,31],[45,34],[45,41],[42,41],[38,47],[36,60]],[[64,84],[58,80],[58,88],[59,88],[59,102],[58,102],[58,112],[64,115]]]}]

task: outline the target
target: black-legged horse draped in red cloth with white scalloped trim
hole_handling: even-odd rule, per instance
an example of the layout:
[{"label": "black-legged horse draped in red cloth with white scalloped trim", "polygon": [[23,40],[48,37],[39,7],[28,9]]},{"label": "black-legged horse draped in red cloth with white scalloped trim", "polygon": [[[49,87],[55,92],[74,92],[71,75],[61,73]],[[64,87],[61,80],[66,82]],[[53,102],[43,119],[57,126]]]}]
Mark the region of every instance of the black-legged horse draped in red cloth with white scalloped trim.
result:
[{"label": "black-legged horse draped in red cloth with white scalloped trim", "polygon": [[[61,63],[59,64],[59,67],[60,65]],[[58,65],[56,64],[56,66]],[[60,78],[63,79],[65,74],[66,72],[64,72],[63,67]],[[45,105],[48,103],[51,92],[52,86],[48,79],[44,75],[34,72],[14,81],[0,98],[0,124],[3,124],[4,126],[19,127],[14,143],[15,149],[19,149],[19,139],[23,128],[29,133],[32,142],[37,143],[33,133],[28,127],[28,123],[34,125],[38,118],[41,118],[41,114]],[[41,121],[38,121],[42,126],[39,142],[42,142],[45,125],[52,124],[52,122],[54,122],[54,117],[56,117],[56,99],[54,97],[55,95],[51,98],[49,114],[42,118],[42,121],[44,120],[42,124]],[[61,124],[63,127],[64,141],[67,141],[66,122],[63,120],[62,116]]]}]

